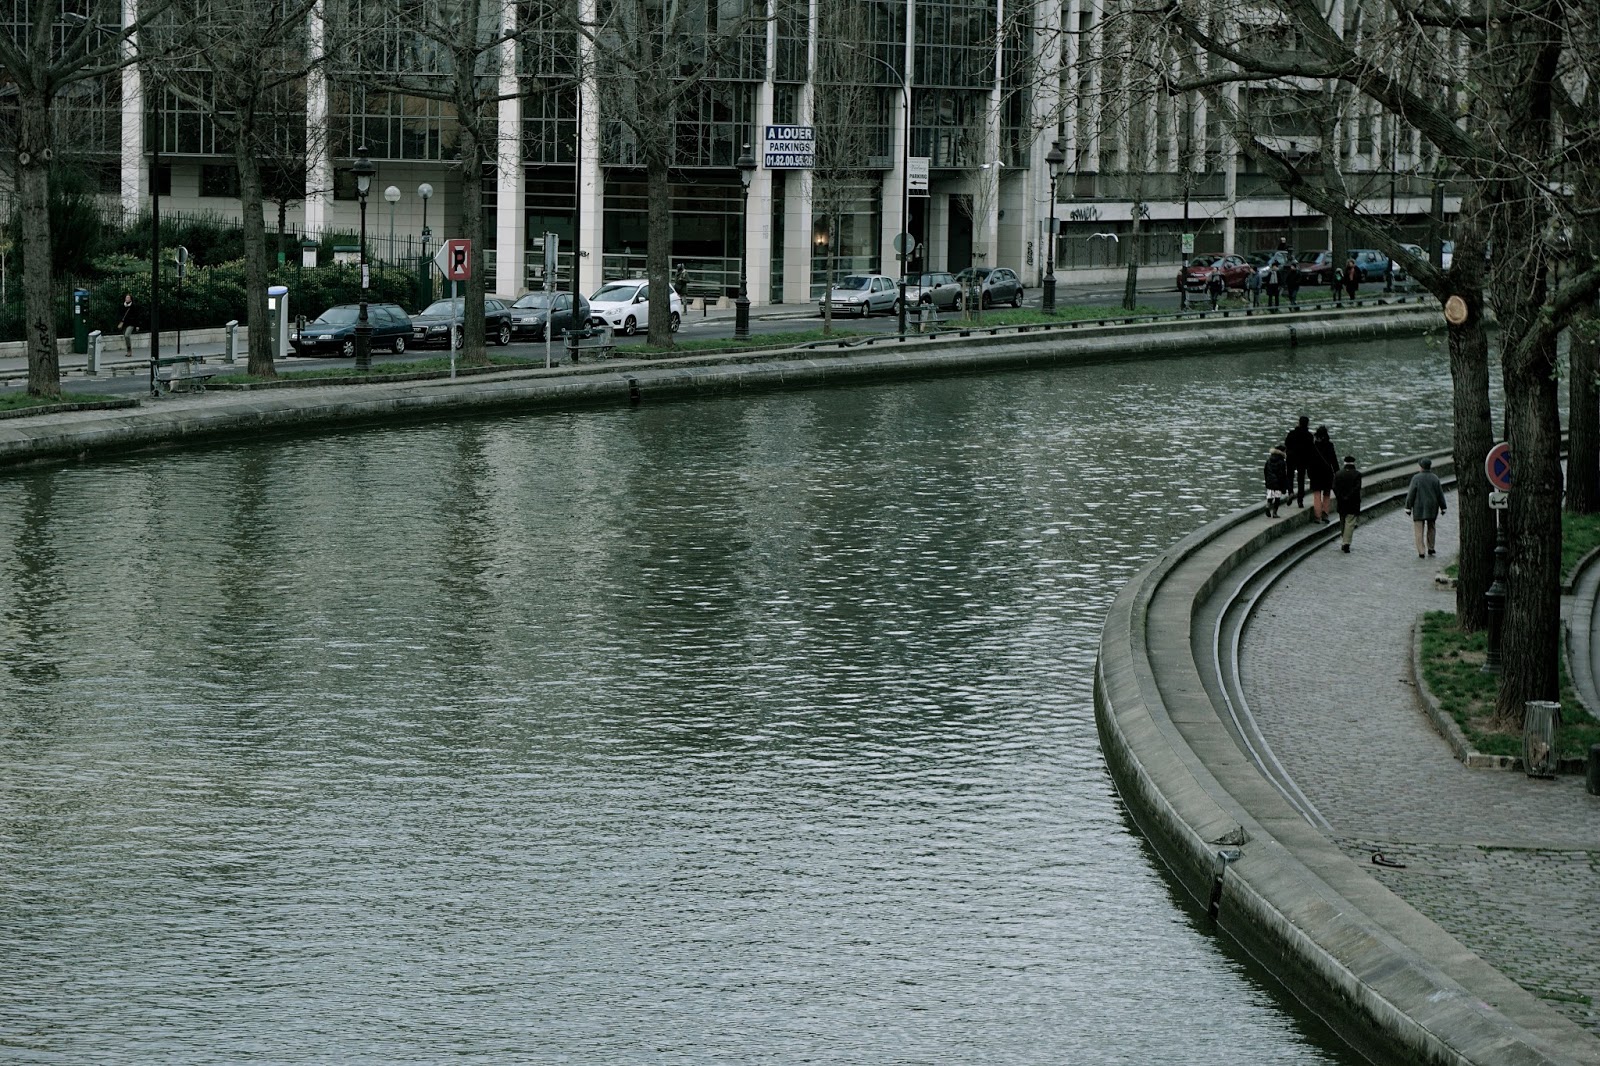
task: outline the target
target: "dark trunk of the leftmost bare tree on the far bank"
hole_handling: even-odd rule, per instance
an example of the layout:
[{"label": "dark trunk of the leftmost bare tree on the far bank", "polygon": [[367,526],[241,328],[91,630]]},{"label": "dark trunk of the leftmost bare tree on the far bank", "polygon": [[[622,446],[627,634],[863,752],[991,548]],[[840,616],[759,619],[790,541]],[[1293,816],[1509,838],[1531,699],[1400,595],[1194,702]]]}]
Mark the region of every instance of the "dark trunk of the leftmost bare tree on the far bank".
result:
[{"label": "dark trunk of the leftmost bare tree on the far bank", "polygon": [[50,253],[50,101],[40,93],[24,93],[19,110],[16,182],[22,218],[27,394],[56,399],[61,395],[61,357],[56,354],[54,262]]}]

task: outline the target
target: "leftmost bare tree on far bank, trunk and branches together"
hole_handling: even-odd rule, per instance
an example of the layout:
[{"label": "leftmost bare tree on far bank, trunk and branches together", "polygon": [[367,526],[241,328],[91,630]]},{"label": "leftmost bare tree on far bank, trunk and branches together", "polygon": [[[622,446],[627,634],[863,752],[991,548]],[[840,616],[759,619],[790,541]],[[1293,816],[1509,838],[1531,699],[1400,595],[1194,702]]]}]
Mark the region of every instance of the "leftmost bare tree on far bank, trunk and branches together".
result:
[{"label": "leftmost bare tree on far bank, trunk and branches together", "polygon": [[109,77],[133,61],[133,42],[165,8],[149,0],[141,18],[120,27],[120,8],[109,0],[62,6],[61,0],[19,0],[10,32],[0,34],[0,82],[14,91],[0,107],[14,109],[18,210],[22,235],[22,301],[27,320],[27,392],[61,395],[56,354],[54,274],[50,251],[50,179],[53,160],[69,131],[56,109],[74,85]]}]

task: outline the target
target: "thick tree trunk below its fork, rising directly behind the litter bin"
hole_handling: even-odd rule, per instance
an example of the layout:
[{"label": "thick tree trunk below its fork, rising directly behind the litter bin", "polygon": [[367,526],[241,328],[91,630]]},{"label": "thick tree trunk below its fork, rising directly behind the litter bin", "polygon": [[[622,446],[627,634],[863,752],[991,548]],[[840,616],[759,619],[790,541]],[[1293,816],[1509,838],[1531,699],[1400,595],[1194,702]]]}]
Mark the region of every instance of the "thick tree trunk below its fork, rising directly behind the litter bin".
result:
[{"label": "thick tree trunk below its fork, rising directly behind the litter bin", "polygon": [[[1538,304],[1534,304],[1538,306]],[[1515,351],[1506,336],[1502,351]],[[1557,698],[1562,624],[1562,423],[1557,411],[1555,344],[1506,367],[1506,429],[1514,488],[1507,511],[1510,567],[1501,627],[1502,674],[1494,717],[1522,728],[1523,704]]]}]

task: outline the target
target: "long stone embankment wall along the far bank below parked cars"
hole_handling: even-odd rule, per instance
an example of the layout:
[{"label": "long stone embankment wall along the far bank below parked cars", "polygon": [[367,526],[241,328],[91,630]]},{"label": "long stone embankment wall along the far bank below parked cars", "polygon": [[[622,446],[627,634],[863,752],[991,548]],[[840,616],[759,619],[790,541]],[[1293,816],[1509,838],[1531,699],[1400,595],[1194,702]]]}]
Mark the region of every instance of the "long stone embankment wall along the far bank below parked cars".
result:
[{"label": "long stone embankment wall along the far bank below parked cars", "polygon": [[1282,315],[1082,323],[1022,333],[950,331],[874,344],[736,355],[613,359],[554,370],[530,368],[459,379],[387,384],[210,391],[173,395],[136,410],[70,411],[0,421],[0,466],[88,458],[128,448],[392,423],[406,418],[627,405],[754,389],[792,389],[938,373],[1059,367],[1171,355],[1184,349],[1280,347],[1325,341],[1414,336],[1438,328],[1432,304],[1304,311]]}]

